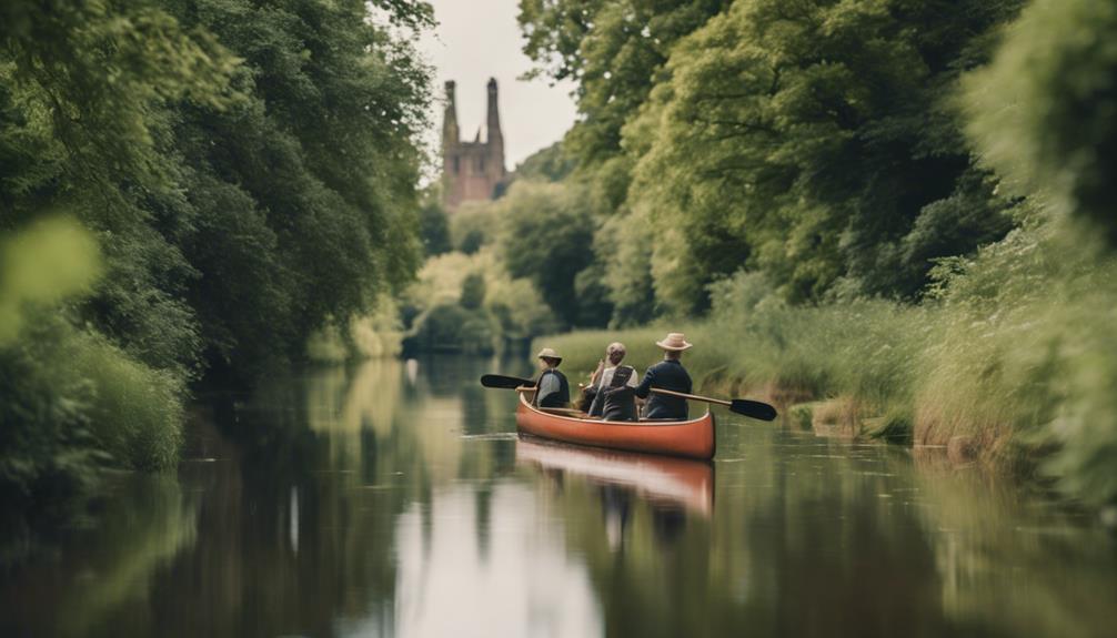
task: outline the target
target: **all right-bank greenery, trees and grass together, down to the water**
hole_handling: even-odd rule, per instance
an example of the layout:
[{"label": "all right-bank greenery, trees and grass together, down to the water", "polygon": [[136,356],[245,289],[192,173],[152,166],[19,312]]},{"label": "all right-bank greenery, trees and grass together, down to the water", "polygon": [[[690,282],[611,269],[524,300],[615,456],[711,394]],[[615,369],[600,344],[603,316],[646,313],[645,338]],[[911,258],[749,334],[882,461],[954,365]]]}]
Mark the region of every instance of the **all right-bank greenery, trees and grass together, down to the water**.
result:
[{"label": "all right-bank greenery, trees and grass together, down to the water", "polygon": [[[576,84],[562,185],[612,327],[670,319],[710,383],[841,396],[909,441],[1058,450],[1070,493],[1117,499],[1113,3],[522,0],[519,20],[537,72]],[[617,335],[550,344],[585,367]]]}]

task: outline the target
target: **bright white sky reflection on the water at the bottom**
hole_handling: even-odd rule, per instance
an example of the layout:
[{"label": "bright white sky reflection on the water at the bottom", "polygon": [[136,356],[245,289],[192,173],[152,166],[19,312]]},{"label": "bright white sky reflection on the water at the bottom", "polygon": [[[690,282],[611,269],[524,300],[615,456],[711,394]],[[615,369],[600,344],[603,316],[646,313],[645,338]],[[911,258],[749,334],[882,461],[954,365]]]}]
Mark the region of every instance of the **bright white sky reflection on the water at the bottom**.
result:
[{"label": "bright white sky reflection on the water at the bottom", "polygon": [[[403,636],[594,636],[600,611],[588,569],[569,559],[563,525],[519,482],[436,493],[397,526],[397,620]],[[547,524],[550,522],[556,524]],[[464,530],[484,525],[488,540]]]}]

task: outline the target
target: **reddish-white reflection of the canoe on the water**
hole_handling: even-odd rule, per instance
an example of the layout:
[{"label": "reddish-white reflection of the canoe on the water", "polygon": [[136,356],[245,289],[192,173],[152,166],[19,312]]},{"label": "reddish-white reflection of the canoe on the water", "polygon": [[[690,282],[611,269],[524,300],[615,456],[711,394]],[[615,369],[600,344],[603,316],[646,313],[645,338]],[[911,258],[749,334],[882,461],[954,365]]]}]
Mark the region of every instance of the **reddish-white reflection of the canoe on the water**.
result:
[{"label": "reddish-white reflection of the canoe on the water", "polygon": [[522,435],[516,464],[560,478],[583,476],[600,485],[604,503],[615,505],[609,509],[619,523],[628,516],[626,491],[665,513],[681,508],[708,518],[714,509],[714,466],[703,461],[575,447]]}]

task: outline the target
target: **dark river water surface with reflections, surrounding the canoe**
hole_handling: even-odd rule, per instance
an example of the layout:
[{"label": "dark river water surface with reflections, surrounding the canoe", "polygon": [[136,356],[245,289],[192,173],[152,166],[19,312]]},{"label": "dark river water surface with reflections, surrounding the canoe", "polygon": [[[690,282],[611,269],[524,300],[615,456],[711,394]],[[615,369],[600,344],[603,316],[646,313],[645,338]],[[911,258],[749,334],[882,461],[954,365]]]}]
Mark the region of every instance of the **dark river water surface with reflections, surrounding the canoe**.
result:
[{"label": "dark river water surface with reflections, surrounding the canoe", "polygon": [[723,414],[712,465],[517,441],[496,368],[201,406],[176,476],[0,572],[0,636],[1117,632],[1117,542],[1032,490]]}]

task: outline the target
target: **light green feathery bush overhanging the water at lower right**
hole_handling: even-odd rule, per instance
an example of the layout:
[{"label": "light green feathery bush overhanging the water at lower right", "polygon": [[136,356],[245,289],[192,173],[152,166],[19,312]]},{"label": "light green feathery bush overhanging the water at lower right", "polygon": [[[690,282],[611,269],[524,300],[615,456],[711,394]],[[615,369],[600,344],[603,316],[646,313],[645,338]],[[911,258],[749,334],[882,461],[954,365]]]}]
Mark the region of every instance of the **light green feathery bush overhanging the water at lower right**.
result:
[{"label": "light green feathery bush overhanging the water at lower right", "polygon": [[[1068,493],[1117,502],[1117,260],[1067,245],[1033,221],[952,264],[929,348],[917,436],[974,436],[1019,460],[1054,444],[1046,467]],[[1030,466],[1030,464],[1028,465]]]}]

